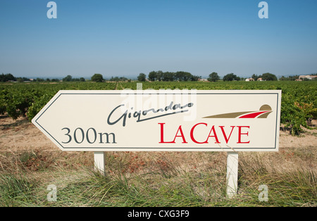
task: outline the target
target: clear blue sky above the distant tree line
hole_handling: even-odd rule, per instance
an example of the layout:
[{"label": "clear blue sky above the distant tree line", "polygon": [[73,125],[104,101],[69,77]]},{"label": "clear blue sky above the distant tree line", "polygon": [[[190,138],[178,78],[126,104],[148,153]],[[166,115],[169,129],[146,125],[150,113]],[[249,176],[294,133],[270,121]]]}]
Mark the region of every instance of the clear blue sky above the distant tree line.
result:
[{"label": "clear blue sky above the distant tree line", "polygon": [[0,73],[137,77],[317,72],[317,1],[0,0]]}]

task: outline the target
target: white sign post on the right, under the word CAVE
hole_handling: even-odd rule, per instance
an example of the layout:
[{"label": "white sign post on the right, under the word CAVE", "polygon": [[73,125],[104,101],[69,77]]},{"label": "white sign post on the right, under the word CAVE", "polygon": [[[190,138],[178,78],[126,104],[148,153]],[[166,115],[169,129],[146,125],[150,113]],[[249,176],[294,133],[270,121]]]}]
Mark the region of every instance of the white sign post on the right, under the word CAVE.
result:
[{"label": "white sign post on the right, under the word CAVE", "polygon": [[238,160],[237,152],[228,152],[227,156],[227,196],[232,198],[237,195],[237,177],[238,177]]}]

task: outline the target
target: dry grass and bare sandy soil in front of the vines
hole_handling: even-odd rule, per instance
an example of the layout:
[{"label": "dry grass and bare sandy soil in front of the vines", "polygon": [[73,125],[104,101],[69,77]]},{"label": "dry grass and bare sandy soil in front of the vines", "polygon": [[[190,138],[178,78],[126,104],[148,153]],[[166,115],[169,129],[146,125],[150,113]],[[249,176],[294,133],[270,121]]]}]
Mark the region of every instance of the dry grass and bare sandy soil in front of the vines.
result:
[{"label": "dry grass and bare sandy soil in front of the vines", "polygon": [[[316,206],[317,146],[307,140],[276,153],[240,153],[238,195],[229,199],[226,153],[107,152],[103,177],[93,153],[46,141],[29,146],[25,130],[35,133],[23,120],[0,128],[0,206]],[[47,201],[50,184],[56,202]],[[259,201],[261,184],[268,202]]]}]

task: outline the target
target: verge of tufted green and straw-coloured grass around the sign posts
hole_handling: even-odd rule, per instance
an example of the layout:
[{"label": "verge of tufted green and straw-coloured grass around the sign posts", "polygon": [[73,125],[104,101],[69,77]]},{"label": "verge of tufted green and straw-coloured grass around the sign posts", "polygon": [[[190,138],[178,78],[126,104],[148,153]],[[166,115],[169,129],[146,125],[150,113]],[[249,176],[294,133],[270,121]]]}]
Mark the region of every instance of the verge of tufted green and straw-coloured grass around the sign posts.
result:
[{"label": "verge of tufted green and straw-coloured grass around the sign posts", "polygon": [[[107,153],[106,176],[101,176],[91,165],[65,169],[55,163],[30,170],[25,165],[36,154],[23,153],[20,164],[15,162],[14,168],[0,172],[0,206],[316,206],[314,170],[276,170],[265,154],[242,154],[239,194],[229,199],[225,195],[225,163],[215,163],[217,158],[222,162],[225,154],[180,153],[180,158],[189,161],[194,154],[201,157],[196,159],[199,165],[174,161],[175,153],[154,154],[150,159],[136,158],[137,153]],[[144,167],[132,167],[135,160]],[[56,186],[55,202],[47,200],[50,184]],[[263,184],[268,201],[259,200]]]}]

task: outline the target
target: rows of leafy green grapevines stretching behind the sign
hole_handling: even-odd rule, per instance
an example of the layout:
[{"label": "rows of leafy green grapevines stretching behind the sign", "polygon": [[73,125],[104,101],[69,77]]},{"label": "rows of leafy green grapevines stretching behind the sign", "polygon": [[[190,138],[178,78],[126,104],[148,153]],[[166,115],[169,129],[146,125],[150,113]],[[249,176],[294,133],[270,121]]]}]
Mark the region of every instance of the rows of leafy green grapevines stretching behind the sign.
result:
[{"label": "rows of leafy green grapevines stretching behind the sign", "polygon": [[[58,82],[0,84],[0,114],[14,120],[27,116],[29,120],[49,102],[59,90],[122,90],[137,89],[136,82]],[[317,119],[317,82],[143,82],[142,89],[198,90],[282,90],[281,124],[292,135],[301,134]]]}]

